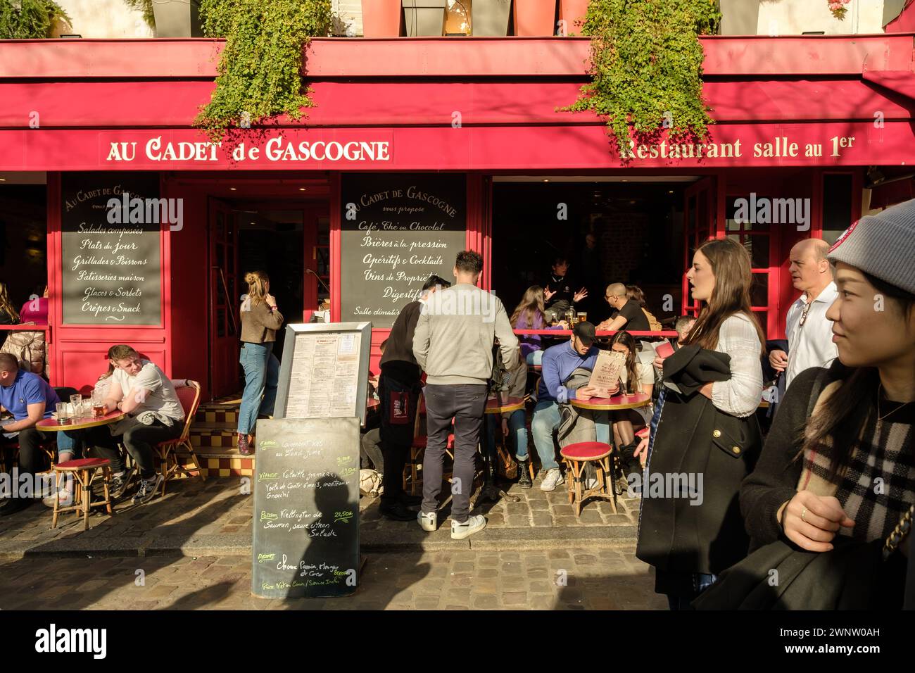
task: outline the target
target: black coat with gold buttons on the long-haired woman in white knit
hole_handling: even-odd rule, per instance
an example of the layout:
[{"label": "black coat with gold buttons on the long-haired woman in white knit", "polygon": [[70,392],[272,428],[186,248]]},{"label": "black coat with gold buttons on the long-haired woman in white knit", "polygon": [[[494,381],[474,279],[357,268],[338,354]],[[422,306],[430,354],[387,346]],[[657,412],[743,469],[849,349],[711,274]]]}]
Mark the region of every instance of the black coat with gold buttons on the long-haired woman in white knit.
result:
[{"label": "black coat with gold buttons on the long-haired woman in white knit", "polygon": [[[697,392],[703,382],[727,380],[729,363],[726,353],[698,346],[664,361],[668,390],[646,468],[636,548],[639,559],[659,570],[717,573],[747,556],[737,494],[759,457],[759,423],[755,415],[726,414]],[[701,504],[691,505],[697,497],[669,489],[652,494],[656,480],[675,484],[673,475],[684,474],[693,475],[697,486],[701,475]]]}]

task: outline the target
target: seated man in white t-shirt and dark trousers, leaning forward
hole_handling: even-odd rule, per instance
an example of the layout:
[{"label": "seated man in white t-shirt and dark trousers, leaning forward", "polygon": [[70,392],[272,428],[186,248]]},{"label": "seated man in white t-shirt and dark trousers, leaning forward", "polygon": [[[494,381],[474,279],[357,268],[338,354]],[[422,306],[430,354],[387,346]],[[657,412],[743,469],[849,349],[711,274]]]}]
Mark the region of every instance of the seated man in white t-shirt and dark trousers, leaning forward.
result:
[{"label": "seated man in white t-shirt and dark trousers, leaning forward", "polygon": [[102,428],[106,431],[93,432],[91,443],[99,455],[112,461],[112,492],[118,496],[124,491],[124,461],[117,442],[124,444],[140,471],[140,488],[132,502],[145,503],[156,494],[163,479],[156,472],[153,447],[180,437],[184,409],[175,386],[156,364],[126,345],[114,346],[110,354],[114,371],[105,397],[105,413],[118,410],[127,416],[109,426],[110,431]]}]

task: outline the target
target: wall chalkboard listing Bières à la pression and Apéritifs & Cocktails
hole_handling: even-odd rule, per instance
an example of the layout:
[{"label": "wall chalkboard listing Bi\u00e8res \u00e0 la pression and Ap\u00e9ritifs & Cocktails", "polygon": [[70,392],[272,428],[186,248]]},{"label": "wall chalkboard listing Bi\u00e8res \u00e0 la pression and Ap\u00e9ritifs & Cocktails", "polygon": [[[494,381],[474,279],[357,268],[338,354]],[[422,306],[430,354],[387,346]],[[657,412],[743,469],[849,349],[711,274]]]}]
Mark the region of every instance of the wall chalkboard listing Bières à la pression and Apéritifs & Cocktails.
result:
[{"label": "wall chalkboard listing Bi\u00e8res \u00e0 la pression and Ap\u00e9ritifs & Cocktails", "polygon": [[467,247],[463,175],[350,173],[341,196],[340,320],[389,328],[429,276],[453,281]]}]

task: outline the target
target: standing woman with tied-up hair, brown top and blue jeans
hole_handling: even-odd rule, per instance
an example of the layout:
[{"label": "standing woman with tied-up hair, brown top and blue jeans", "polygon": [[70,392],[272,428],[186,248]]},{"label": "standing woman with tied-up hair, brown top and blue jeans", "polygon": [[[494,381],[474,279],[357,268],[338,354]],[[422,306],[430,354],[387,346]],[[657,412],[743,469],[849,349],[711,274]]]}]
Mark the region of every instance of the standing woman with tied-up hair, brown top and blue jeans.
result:
[{"label": "standing woman with tied-up hair, brown top and blue jeans", "polygon": [[250,456],[254,450],[251,430],[259,414],[274,413],[276,383],[280,364],[274,355],[276,331],[283,326],[283,316],[270,294],[270,278],[263,271],[244,275],[248,294],[242,296],[242,353],[239,362],[244,369],[242,407],[238,414],[238,450]]}]

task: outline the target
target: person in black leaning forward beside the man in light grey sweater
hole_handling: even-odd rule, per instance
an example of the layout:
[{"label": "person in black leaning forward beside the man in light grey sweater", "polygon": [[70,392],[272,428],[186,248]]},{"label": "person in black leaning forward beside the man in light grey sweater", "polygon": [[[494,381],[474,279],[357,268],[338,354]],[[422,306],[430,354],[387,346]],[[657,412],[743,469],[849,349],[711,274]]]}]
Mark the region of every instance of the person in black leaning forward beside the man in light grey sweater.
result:
[{"label": "person in black leaning forward beside the man in light grey sweater", "polygon": [[404,494],[404,465],[413,443],[416,407],[421,391],[420,378],[423,375],[413,354],[416,322],[423,301],[439,289],[450,286],[444,278],[430,276],[425,281],[420,299],[404,306],[397,320],[394,320],[382,353],[378,396],[382,402],[379,439],[382,443],[384,492],[378,508],[382,516],[394,521],[412,521],[415,514],[407,507],[419,505],[411,496]]}]

